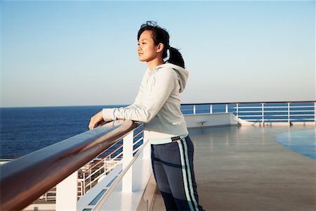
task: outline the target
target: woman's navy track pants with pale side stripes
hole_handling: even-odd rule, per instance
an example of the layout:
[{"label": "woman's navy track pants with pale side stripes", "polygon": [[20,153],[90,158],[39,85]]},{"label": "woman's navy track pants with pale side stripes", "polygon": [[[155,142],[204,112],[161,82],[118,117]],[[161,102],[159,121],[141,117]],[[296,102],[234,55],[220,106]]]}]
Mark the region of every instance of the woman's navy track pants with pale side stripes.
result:
[{"label": "woman's navy track pants with pale side stripes", "polygon": [[203,210],[197,196],[190,137],[151,147],[152,170],[166,210]]}]

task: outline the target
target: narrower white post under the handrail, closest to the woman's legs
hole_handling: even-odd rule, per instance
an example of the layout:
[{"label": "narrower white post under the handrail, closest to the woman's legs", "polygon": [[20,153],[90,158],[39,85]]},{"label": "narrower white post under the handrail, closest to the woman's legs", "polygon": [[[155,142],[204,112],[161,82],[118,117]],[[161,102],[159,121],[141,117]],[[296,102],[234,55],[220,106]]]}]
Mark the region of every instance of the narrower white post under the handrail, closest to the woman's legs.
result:
[{"label": "narrower white post under the handrail, closest to the woman's legs", "polygon": [[[126,135],[123,139],[123,170],[129,165],[133,159],[133,131]],[[126,172],[122,179],[122,191],[131,193],[132,191],[132,167]]]}]

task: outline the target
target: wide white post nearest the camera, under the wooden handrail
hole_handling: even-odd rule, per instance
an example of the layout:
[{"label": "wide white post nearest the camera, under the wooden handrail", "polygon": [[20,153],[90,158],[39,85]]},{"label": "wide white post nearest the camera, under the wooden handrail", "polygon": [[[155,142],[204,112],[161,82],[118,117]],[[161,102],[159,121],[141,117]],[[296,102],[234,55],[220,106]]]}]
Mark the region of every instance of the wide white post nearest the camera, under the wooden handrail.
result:
[{"label": "wide white post nearest the camera, under the wooden handrail", "polygon": [[56,186],[56,210],[77,210],[78,171]]}]

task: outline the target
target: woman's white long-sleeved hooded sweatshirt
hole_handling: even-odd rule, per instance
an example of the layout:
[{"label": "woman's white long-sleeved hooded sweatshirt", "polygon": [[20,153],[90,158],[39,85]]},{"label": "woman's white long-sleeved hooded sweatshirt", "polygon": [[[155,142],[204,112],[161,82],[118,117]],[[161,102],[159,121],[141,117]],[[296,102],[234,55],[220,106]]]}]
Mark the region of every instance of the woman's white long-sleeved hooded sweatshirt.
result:
[{"label": "woman's white long-sleeved hooded sweatshirt", "polygon": [[145,123],[145,139],[164,139],[187,135],[180,111],[180,93],[185,89],[189,72],[178,65],[164,63],[143,76],[138,95],[131,106],[104,108],[105,121],[126,119]]}]

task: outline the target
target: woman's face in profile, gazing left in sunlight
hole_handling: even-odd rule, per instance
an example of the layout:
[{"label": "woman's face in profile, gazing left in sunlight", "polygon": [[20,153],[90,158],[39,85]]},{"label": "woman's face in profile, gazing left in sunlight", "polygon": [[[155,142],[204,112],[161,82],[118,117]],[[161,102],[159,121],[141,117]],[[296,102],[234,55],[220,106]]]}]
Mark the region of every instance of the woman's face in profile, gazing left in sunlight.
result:
[{"label": "woman's face in profile, gazing left in sunlight", "polygon": [[154,44],[154,39],[152,39],[152,31],[145,30],[140,34],[138,40],[138,59],[140,61],[151,61],[158,57],[157,46]]}]

